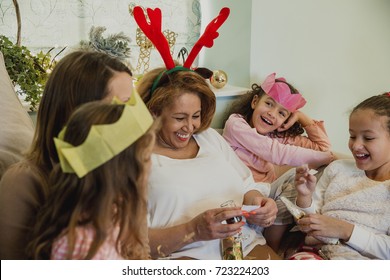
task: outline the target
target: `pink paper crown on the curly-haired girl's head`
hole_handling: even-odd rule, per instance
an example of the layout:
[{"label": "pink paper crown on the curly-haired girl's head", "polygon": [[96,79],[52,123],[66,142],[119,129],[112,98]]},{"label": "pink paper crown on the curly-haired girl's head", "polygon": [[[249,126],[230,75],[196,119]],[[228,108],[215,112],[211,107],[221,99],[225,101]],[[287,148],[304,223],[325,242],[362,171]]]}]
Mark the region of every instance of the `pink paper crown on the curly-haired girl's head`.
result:
[{"label": "pink paper crown on the curly-haired girl's head", "polygon": [[[275,82],[275,76],[276,73],[268,75],[265,81],[261,84],[261,88],[264,92],[290,112],[295,112],[296,110],[302,108],[306,104],[305,98],[303,98],[299,92],[291,93],[287,84]],[[277,79],[284,82],[286,81],[286,79],[282,77]]]}]

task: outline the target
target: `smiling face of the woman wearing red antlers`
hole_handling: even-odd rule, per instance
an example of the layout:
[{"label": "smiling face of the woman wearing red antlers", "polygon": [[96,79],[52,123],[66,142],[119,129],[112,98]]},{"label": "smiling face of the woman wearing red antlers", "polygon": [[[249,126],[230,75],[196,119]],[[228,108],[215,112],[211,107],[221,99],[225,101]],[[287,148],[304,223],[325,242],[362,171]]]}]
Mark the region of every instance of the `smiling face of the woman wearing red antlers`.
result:
[{"label": "smiling face of the woman wearing red antlers", "polygon": [[201,124],[201,100],[194,93],[184,93],[161,113],[160,138],[170,148],[188,145]]}]

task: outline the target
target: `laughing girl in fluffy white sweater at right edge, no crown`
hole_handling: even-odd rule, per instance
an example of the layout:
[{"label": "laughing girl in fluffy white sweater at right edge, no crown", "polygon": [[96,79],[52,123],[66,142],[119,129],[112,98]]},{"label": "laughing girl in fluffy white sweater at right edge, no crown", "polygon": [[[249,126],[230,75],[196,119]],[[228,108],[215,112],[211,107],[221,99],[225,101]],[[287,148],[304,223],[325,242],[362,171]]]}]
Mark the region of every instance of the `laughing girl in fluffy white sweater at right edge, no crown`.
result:
[{"label": "laughing girl in fluffy white sweater at right edge, no crown", "polygon": [[326,258],[390,259],[390,93],[357,105],[349,134],[354,160],[329,164],[317,186],[297,168],[296,205],[308,213],[298,224]]}]

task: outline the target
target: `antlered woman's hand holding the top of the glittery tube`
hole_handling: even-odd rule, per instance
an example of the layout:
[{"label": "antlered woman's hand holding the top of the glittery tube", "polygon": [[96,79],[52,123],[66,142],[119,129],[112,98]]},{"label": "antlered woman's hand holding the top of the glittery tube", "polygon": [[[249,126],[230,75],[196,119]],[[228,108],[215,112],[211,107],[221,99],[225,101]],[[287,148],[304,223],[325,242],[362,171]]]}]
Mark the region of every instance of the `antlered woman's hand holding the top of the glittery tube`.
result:
[{"label": "antlered woman's hand holding the top of the glittery tube", "polygon": [[240,207],[216,208],[199,214],[190,222],[195,229],[195,241],[221,239],[239,233],[244,222],[235,224],[222,222],[242,215]]}]

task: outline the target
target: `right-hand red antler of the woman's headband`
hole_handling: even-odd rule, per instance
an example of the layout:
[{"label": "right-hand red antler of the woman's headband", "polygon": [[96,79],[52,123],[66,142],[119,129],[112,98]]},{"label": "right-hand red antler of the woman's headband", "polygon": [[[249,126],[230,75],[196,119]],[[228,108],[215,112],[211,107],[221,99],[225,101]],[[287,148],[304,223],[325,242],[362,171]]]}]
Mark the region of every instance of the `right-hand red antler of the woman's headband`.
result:
[{"label": "right-hand red antler of the woman's headband", "polygon": [[187,60],[184,63],[184,67],[190,68],[195,58],[198,56],[200,50],[203,46],[207,48],[211,48],[214,44],[214,39],[218,37],[218,28],[225,22],[230,13],[230,9],[224,7],[219,12],[219,15],[214,18],[206,27],[203,35],[199,38],[199,40],[195,43],[192,48],[190,54],[187,57]]}]

